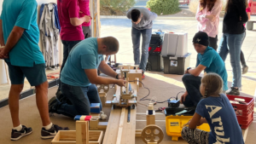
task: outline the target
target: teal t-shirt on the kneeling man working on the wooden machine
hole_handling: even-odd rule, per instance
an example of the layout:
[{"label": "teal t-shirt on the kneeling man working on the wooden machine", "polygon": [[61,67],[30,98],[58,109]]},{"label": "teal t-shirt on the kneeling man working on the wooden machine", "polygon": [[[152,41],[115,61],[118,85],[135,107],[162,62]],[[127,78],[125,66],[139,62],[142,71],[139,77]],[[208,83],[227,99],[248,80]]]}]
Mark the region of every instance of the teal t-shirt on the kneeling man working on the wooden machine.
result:
[{"label": "teal t-shirt on the kneeling man working on the wooden machine", "polygon": [[97,69],[104,60],[98,54],[96,37],[86,38],[73,47],[61,72],[61,82],[73,86],[86,87],[90,81],[84,69]]}]

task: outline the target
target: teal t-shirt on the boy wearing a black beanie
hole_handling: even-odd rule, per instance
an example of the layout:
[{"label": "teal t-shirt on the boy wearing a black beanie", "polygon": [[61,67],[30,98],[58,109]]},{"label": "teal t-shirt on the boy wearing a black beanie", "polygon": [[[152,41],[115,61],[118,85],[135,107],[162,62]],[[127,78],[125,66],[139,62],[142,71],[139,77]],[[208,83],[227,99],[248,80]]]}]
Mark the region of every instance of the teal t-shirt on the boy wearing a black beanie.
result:
[{"label": "teal t-shirt on the boy wearing a black beanie", "polygon": [[223,89],[228,89],[228,73],[226,71],[224,61],[218,55],[216,50],[212,49],[211,47],[207,47],[203,55],[198,54],[196,66],[198,65],[207,66],[207,68],[205,69],[207,73],[217,73],[223,79]]}]

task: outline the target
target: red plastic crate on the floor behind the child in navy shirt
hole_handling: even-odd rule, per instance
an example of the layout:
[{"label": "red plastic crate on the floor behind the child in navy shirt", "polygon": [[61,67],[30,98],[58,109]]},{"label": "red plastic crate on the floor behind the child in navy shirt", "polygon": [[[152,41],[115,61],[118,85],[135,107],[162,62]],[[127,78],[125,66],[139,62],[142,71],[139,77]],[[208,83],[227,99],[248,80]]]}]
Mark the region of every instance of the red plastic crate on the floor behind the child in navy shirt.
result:
[{"label": "red plastic crate on the floor behind the child in navy shirt", "polygon": [[[236,118],[241,129],[247,129],[253,122],[254,98],[236,95],[227,95],[227,97],[234,107]],[[239,102],[238,99],[243,101]]]}]

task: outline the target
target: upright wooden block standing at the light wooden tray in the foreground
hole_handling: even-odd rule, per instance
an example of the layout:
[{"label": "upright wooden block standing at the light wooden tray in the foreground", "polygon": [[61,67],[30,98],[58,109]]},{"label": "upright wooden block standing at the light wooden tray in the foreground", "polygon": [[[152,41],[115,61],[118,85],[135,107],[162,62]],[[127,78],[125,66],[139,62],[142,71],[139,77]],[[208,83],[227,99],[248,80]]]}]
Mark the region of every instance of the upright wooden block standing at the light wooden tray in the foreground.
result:
[{"label": "upright wooden block standing at the light wooden tray in the foreground", "polygon": [[76,122],[76,141],[77,144],[89,143],[89,123],[87,121]]}]

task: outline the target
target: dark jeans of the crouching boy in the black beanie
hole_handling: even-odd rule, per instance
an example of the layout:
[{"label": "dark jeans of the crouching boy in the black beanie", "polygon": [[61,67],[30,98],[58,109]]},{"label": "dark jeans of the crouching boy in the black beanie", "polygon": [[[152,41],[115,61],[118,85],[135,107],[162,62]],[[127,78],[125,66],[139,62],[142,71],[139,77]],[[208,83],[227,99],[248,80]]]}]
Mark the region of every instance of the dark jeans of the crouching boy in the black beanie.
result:
[{"label": "dark jeans of the crouching boy in the black beanie", "polygon": [[201,101],[202,95],[200,92],[201,77],[195,77],[191,74],[183,75],[183,84],[186,87],[189,95],[183,101],[185,107],[196,107],[198,102]]}]

